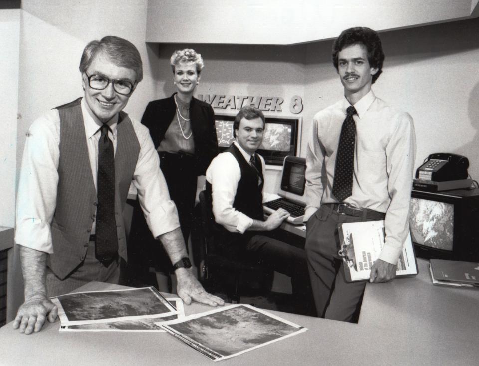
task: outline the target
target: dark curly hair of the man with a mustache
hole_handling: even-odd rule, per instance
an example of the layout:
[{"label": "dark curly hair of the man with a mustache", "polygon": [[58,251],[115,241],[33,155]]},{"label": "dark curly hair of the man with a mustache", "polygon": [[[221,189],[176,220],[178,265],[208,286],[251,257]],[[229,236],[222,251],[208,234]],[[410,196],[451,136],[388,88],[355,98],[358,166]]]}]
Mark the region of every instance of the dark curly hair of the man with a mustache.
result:
[{"label": "dark curly hair of the man with a mustache", "polygon": [[383,62],[384,62],[384,52],[383,47],[381,46],[381,39],[376,31],[366,28],[366,27],[354,27],[343,30],[339,37],[336,38],[333,44],[333,64],[338,71],[338,53],[344,47],[350,46],[351,44],[361,43],[366,46],[368,51],[368,62],[369,65],[373,68],[377,68],[378,72],[373,75],[372,84],[377,80],[379,75],[381,75]]}]

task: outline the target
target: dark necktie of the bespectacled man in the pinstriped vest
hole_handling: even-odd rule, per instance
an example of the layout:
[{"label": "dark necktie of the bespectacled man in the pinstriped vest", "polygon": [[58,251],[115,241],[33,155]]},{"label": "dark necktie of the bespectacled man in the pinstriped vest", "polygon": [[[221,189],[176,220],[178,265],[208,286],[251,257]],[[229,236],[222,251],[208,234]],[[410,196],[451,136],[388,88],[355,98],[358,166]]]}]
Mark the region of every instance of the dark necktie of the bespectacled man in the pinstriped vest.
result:
[{"label": "dark necktie of the bespectacled man in the pinstriped vest", "polygon": [[96,209],[96,258],[109,262],[118,252],[115,221],[115,156],[107,124],[98,141],[98,206]]}]

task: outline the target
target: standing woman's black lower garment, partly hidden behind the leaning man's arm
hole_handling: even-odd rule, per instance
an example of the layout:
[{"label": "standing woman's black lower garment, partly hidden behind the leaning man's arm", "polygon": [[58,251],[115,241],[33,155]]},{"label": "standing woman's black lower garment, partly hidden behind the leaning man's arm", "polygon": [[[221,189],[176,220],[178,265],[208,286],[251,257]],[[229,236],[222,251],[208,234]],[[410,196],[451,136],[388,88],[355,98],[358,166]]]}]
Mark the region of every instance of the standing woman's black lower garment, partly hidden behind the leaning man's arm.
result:
[{"label": "standing woman's black lower garment, partly hidden behind the leaning man's arm", "polygon": [[[195,205],[197,175],[193,155],[160,152],[160,168],[175,202],[183,238],[188,248]],[[156,284],[149,268],[169,274],[172,263],[161,243],[153,238],[138,200],[134,204],[128,240],[128,273],[131,285]]]}]

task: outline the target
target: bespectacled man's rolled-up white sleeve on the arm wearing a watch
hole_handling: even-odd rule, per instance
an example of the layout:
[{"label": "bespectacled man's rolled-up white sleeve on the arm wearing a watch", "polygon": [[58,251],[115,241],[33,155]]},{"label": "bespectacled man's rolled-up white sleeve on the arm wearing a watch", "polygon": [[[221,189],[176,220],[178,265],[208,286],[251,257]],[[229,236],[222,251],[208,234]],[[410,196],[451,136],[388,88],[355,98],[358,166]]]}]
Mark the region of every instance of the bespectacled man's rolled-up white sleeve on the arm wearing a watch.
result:
[{"label": "bespectacled man's rolled-up white sleeve on the arm wearing a watch", "polygon": [[133,175],[140,206],[151,233],[156,238],[180,227],[178,211],[170,199],[165,177],[160,169],[160,159],[148,129],[135,123],[140,142],[140,154]]}]

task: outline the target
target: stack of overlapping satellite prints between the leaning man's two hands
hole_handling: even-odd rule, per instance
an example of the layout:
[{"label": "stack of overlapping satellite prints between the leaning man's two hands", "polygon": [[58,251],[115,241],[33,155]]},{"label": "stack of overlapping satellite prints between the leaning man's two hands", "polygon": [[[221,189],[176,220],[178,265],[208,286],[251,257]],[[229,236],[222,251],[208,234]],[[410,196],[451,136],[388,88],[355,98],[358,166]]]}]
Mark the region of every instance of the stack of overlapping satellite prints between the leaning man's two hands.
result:
[{"label": "stack of overlapping satellite prints between the leaning man's two hands", "polygon": [[164,332],[157,323],[185,316],[180,298],[166,299],[154,287],[77,292],[52,301],[60,331]]}]

